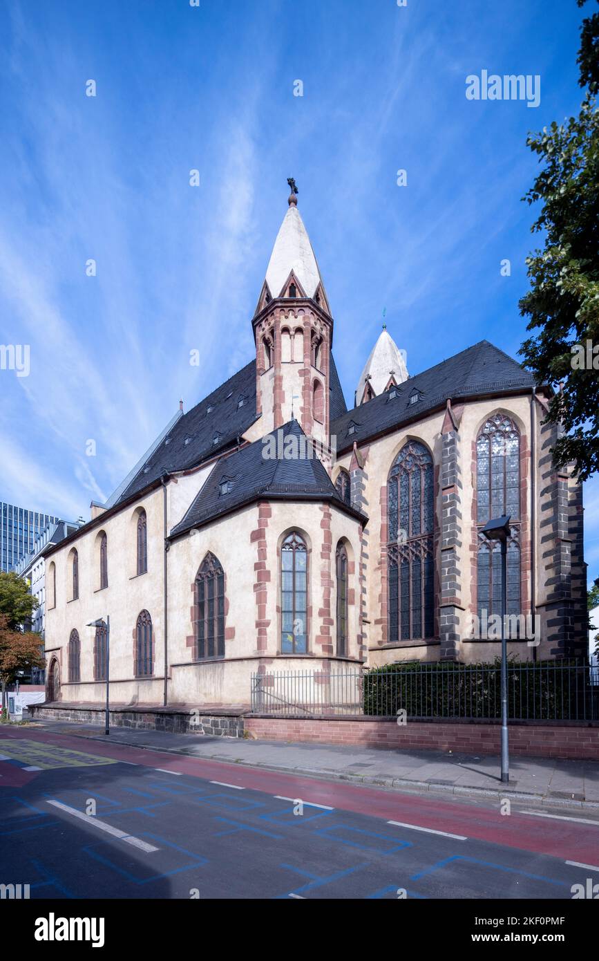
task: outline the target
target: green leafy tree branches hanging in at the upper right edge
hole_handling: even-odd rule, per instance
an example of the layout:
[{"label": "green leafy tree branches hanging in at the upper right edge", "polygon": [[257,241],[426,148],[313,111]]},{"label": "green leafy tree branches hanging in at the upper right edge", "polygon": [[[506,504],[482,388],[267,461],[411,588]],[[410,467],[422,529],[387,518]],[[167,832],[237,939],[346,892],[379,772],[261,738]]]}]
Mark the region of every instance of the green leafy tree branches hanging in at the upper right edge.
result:
[{"label": "green leafy tree branches hanging in at the upper right edge", "polygon": [[[583,7],[587,0],[577,3]],[[573,461],[580,479],[587,480],[599,470],[597,12],[583,21],[577,62],[579,85],[587,88],[578,117],[553,121],[549,130],[527,139],[542,166],[523,199],[541,204],[532,232],[544,233],[544,247],[526,260],[531,289],[519,307],[530,318],[527,330],[539,333],[524,341],[520,355],[539,382],[562,383],[548,411],[548,420],[564,428],[553,454],[559,466]],[[581,351],[573,351],[576,345],[585,350],[584,366]]]}]

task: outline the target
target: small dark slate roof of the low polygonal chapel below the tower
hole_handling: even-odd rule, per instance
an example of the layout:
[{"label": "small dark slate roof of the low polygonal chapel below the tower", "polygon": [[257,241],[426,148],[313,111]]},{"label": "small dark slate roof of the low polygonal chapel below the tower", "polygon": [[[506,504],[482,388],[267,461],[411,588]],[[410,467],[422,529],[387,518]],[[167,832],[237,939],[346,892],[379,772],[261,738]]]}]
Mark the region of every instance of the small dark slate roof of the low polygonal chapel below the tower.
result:
[{"label": "small dark slate roof of the low polygonal chapel below the tower", "polygon": [[[250,504],[262,496],[286,497],[290,500],[317,498],[337,504],[354,517],[364,520],[363,514],[349,507],[340,497],[318,457],[309,456],[305,448],[302,450],[300,438],[305,438],[305,434],[298,422],[289,421],[279,431],[278,440],[281,443],[277,454],[284,451],[282,444],[285,438],[293,435],[298,440],[296,450],[304,456],[293,459],[264,456],[267,450],[264,444],[266,438],[261,438],[248,447],[223,457],[214,465],[180,524],[171,530],[171,536],[199,527],[207,521],[217,520],[221,514]],[[274,431],[266,437],[276,438],[277,433],[278,431]],[[225,480],[231,481],[231,490],[221,493],[221,484]]]}]

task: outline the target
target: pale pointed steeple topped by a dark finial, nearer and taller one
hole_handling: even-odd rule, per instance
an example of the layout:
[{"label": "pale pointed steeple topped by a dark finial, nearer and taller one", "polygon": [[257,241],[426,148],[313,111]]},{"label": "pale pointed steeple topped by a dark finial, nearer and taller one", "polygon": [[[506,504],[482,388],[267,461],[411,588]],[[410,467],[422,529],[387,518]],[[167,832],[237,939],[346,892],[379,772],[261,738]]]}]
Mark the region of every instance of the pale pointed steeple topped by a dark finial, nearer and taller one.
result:
[{"label": "pale pointed steeple topped by a dark finial, nearer and taller one", "polygon": [[319,286],[323,291],[323,278],[299,214],[296,190],[294,182],[289,196],[289,209],[276,234],[266,270],[266,283],[271,297],[289,297],[290,284],[297,282],[300,289],[297,289],[296,283],[296,296],[300,297],[303,293],[304,297],[316,299]]}]

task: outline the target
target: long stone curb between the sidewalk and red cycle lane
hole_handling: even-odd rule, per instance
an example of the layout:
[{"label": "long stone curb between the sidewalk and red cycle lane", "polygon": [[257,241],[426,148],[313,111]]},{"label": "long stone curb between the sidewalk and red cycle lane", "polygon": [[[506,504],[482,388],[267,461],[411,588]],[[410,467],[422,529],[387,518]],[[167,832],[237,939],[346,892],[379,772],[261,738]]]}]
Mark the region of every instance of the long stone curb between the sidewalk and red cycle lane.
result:
[{"label": "long stone curb between the sidewalk and red cycle lane", "polygon": [[[67,734],[68,731],[48,731],[48,733],[55,734]],[[81,737],[84,740],[98,740],[101,735],[93,734],[91,731],[89,734],[70,733],[70,737]],[[516,791],[510,788],[504,789],[503,791],[493,790],[491,788],[482,787],[468,787],[456,784],[430,784],[428,781],[418,781],[410,780],[404,777],[393,777],[393,776],[369,776],[369,775],[358,775],[353,773],[345,773],[334,770],[327,770],[325,768],[302,768],[302,767],[282,767],[277,764],[266,764],[263,761],[246,761],[241,757],[231,758],[224,754],[194,754],[191,748],[166,748],[166,747],[156,747],[150,744],[136,744],[134,741],[113,741],[113,744],[122,744],[128,748],[139,748],[143,751],[157,751],[164,752],[168,754],[182,754],[186,757],[196,758],[199,761],[209,760],[209,761],[222,761],[227,764],[239,764],[242,767],[263,769],[265,771],[277,771],[281,774],[287,775],[301,775],[307,777],[320,777],[324,780],[342,780],[348,781],[351,784],[361,784],[365,787],[384,787],[395,791],[408,792],[412,794],[432,794],[432,795],[453,795],[458,798],[486,798],[492,799],[494,801],[502,801],[504,798],[508,797],[510,800],[514,801],[526,801],[528,803],[541,804],[543,807],[558,807],[558,808],[576,808],[578,810],[589,810],[589,811],[599,811],[599,801],[576,801],[574,799],[563,799],[563,798],[551,798],[544,794],[539,794],[535,791]]]}]

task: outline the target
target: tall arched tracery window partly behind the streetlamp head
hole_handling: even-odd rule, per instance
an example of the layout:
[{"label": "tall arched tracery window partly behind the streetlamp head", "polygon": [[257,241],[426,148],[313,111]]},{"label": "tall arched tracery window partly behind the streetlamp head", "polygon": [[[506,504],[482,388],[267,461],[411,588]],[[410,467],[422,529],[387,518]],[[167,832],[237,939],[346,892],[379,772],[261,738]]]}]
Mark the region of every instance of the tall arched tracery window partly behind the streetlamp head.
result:
[{"label": "tall arched tracery window partly behind the streetlamp head", "polygon": [[520,434],[500,412],[485,422],[476,440],[478,524],[477,614],[501,614],[501,548],[480,533],[488,521],[510,515],[507,613],[520,613]]}]

